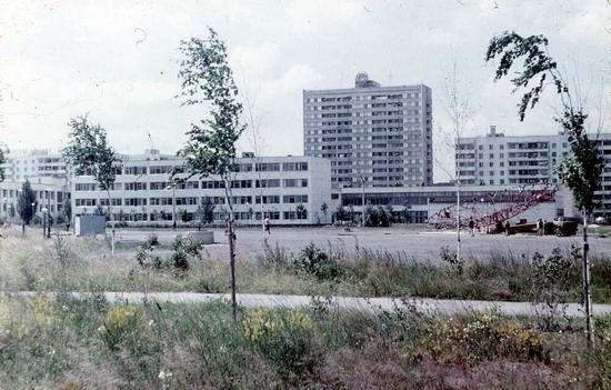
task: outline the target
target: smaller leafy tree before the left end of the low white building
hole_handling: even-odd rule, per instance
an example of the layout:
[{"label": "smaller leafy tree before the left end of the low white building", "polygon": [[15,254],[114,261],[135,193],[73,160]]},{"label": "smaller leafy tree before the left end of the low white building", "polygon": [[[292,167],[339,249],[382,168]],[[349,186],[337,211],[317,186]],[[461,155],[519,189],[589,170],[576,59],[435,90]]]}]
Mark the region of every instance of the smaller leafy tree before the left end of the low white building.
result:
[{"label": "smaller leafy tree before the left end of the low white building", "polygon": [[112,226],[111,248],[114,254],[114,218],[110,190],[121,170],[121,160],[114,149],[108,144],[106,129],[90,123],[87,116],[70,119],[68,147],[62,150],[63,159],[74,174],[91,174],[101,191],[108,196],[108,213]]}]

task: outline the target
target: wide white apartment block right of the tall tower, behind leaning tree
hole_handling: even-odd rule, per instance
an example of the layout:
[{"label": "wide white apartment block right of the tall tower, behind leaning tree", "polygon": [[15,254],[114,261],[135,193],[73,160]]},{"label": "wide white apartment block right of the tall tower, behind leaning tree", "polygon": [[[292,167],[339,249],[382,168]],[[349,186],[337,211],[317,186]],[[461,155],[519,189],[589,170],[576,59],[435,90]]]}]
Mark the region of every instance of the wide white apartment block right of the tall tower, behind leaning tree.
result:
[{"label": "wide white apartment block right of the tall tower, behind leaning tree", "polygon": [[[611,216],[611,133],[591,136],[604,157],[601,202],[597,216]],[[569,153],[569,136],[505,137],[490,128],[485,137],[461,138],[455,151],[458,178],[463,184],[504,186],[559,183],[555,167]]]}]

